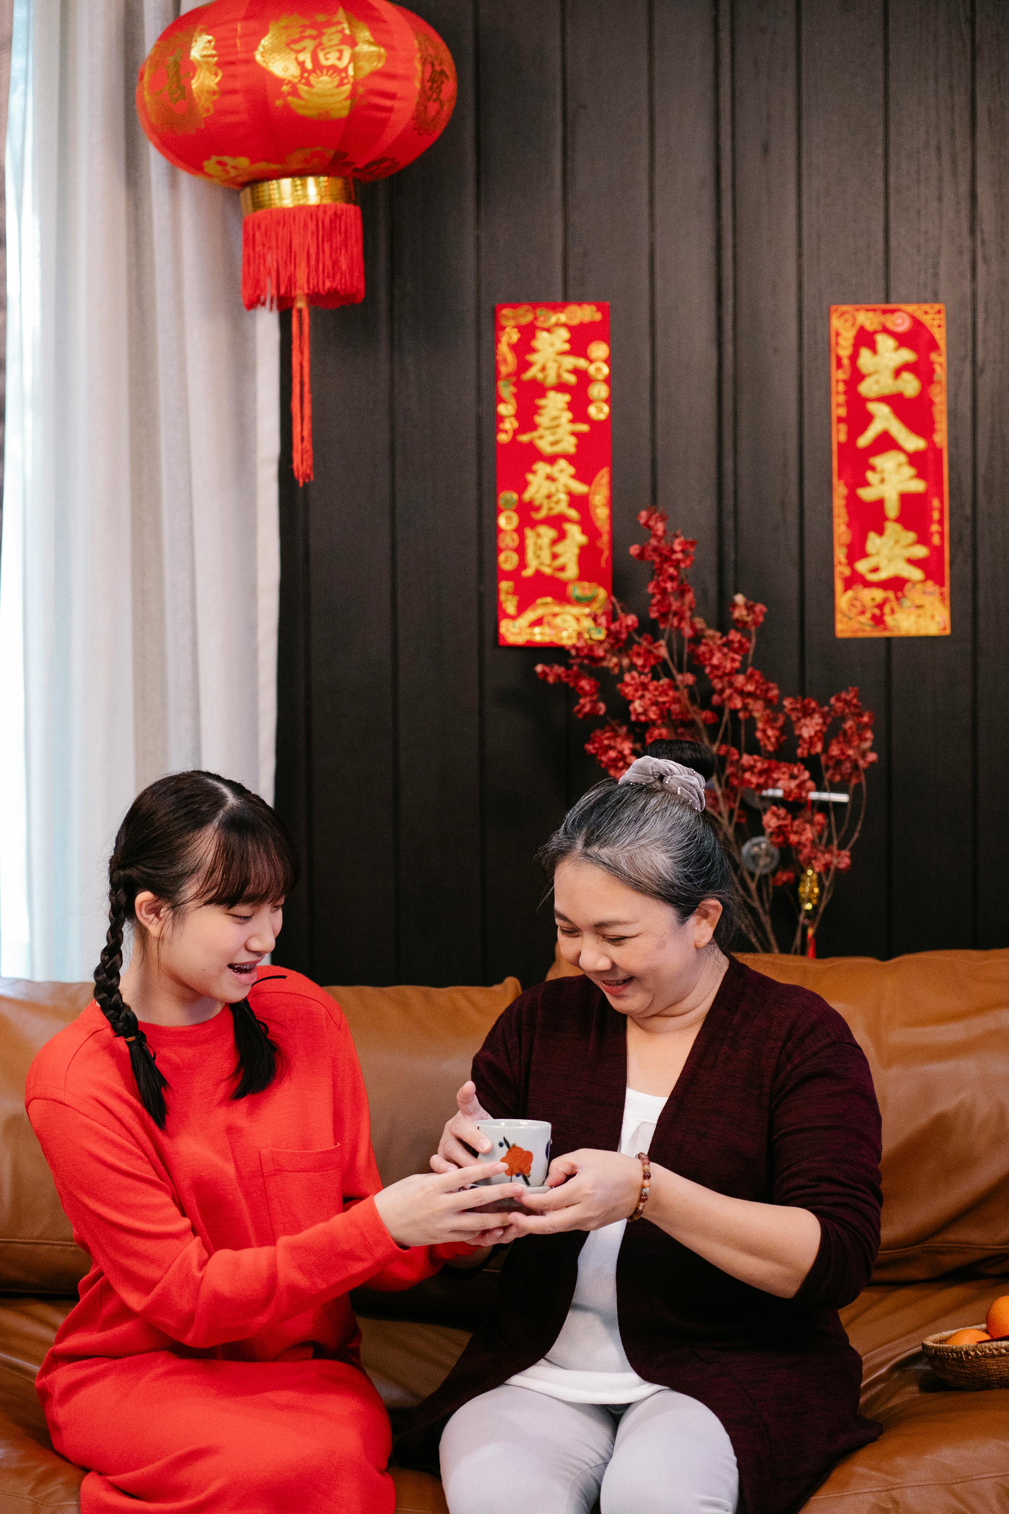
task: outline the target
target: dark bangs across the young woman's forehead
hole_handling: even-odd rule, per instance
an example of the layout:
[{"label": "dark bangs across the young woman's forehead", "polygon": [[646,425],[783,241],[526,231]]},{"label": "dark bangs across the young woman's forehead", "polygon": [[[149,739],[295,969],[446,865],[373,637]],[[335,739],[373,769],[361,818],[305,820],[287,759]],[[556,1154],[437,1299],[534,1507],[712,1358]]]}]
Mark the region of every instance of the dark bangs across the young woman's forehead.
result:
[{"label": "dark bangs across the young woman's forehead", "polygon": [[292,840],[262,799],[225,808],[204,848],[194,895],[200,904],[275,904],[298,881]]}]

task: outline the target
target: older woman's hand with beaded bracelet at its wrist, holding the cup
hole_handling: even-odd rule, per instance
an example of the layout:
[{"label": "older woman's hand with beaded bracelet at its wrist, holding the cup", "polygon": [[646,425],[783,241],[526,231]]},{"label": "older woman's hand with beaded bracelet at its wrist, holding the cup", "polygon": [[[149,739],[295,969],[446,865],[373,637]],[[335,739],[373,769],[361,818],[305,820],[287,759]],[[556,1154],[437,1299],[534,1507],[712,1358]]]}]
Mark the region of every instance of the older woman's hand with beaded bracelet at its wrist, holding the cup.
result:
[{"label": "older woman's hand with beaded bracelet at its wrist, holding the cup", "polygon": [[511,1219],[517,1235],[602,1229],[634,1214],[641,1193],[641,1163],[616,1151],[572,1151],[551,1163],[552,1193],[523,1193]]}]

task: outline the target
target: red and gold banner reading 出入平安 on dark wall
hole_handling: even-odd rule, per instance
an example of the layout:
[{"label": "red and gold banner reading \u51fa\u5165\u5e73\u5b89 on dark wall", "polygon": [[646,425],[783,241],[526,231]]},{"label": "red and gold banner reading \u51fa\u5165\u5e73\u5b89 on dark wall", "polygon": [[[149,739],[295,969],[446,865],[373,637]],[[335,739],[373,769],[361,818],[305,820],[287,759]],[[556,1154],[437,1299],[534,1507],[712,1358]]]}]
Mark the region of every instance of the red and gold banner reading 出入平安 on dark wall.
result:
[{"label": "red and gold banner reading \u51fa\u5165\u5e73\u5b89 on dark wall", "polygon": [[830,306],[838,636],[948,636],[945,307]]}]

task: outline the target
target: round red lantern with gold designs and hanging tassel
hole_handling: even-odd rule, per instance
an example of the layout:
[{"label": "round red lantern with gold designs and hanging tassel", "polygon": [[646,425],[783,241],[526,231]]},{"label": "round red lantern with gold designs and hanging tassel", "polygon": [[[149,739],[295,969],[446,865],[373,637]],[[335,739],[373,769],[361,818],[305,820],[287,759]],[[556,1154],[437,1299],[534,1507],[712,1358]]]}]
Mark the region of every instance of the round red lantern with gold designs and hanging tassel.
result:
[{"label": "round red lantern with gold designs and hanging tassel", "polygon": [[245,307],[293,307],[298,483],[312,478],[309,306],[365,298],[354,180],[405,168],[455,104],[452,55],[427,21],[387,0],[352,6],[213,0],[162,32],[136,89],[175,168],[241,189]]}]

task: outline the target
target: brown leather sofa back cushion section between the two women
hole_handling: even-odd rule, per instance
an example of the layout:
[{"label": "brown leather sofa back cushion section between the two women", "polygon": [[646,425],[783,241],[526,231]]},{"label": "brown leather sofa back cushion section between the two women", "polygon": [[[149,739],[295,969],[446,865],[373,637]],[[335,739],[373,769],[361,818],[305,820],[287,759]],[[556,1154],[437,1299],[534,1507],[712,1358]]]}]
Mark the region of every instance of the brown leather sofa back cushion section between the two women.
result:
[{"label": "brown leather sofa back cushion section between the two women", "polygon": [[368,1087],[381,1181],[430,1172],[455,1090],[473,1054],[513,999],[517,978],[490,989],[327,989],[354,1037]]}]

